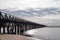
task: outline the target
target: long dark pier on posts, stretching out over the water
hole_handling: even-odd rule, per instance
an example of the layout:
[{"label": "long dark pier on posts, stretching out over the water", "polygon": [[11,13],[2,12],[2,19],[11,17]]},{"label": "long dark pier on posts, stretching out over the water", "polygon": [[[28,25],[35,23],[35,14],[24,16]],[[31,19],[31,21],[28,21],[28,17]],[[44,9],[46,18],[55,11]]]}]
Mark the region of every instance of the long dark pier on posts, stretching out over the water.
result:
[{"label": "long dark pier on posts, stretching out over the water", "polygon": [[[7,27],[7,34],[23,34],[23,32],[27,30],[46,27],[46,26],[42,24],[26,21],[24,19],[14,17],[6,13],[2,14],[2,12],[0,12],[0,29],[1,27],[3,27],[4,34],[5,34],[5,27]],[[14,30],[15,32],[13,32]]]}]

